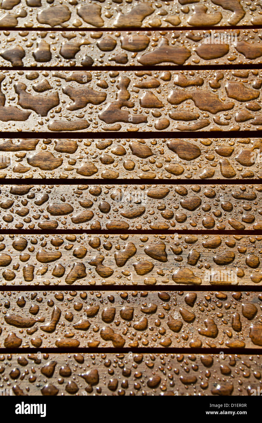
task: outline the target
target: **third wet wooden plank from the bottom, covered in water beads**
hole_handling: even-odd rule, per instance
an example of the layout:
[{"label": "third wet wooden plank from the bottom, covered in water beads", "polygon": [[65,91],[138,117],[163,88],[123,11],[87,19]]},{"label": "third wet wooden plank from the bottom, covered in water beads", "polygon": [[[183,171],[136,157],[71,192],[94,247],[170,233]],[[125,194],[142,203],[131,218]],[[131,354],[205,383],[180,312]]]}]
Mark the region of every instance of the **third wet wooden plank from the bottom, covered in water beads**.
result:
[{"label": "third wet wooden plank from the bottom, covered in water beads", "polygon": [[53,234],[6,235],[0,241],[2,285],[248,286],[262,281],[262,236]]}]

